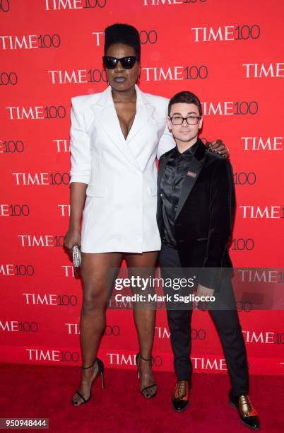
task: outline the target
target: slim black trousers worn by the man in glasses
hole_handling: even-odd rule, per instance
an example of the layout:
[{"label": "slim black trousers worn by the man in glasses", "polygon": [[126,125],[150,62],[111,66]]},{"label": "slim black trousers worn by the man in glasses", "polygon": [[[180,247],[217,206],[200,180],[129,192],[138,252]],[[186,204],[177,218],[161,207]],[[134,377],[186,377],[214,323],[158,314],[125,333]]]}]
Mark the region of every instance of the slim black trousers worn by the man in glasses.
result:
[{"label": "slim black trousers worn by the man in glasses", "polygon": [[[162,277],[177,277],[182,270],[172,273],[165,268],[181,268],[177,250],[162,244],[159,255]],[[232,291],[231,282],[226,283],[226,290]],[[168,289],[165,290],[169,293]],[[232,291],[232,296],[234,296]],[[171,306],[172,308],[172,306]],[[170,341],[174,353],[174,372],[179,381],[191,379],[191,316],[192,309],[167,309],[167,321],[170,328]],[[237,308],[211,310],[211,317],[218,330],[223,347],[227,369],[230,375],[232,392],[235,396],[249,393],[249,372],[247,352],[244,345],[242,328],[239,324]]]}]

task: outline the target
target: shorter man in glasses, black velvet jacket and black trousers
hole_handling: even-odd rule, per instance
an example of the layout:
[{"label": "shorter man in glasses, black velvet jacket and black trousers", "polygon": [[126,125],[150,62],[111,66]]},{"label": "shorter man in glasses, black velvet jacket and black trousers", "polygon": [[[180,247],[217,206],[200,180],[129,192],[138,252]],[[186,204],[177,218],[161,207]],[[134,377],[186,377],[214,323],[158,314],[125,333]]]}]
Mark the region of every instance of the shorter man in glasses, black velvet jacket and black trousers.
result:
[{"label": "shorter man in glasses, black velvet jacket and black trousers", "polygon": [[[230,403],[239,410],[244,425],[259,429],[259,416],[248,395],[247,353],[230,281],[228,243],[235,216],[232,167],[227,159],[206,150],[199,139],[202,122],[201,103],[193,93],[173,96],[167,125],[177,146],[160,157],[158,171],[159,261],[164,279],[186,276],[184,268],[199,268],[196,296],[215,296],[218,301],[218,308],[210,306],[210,313],[230,375]],[[167,294],[169,290],[165,289]],[[172,308],[168,303],[177,376],[172,405],[181,412],[189,405],[192,306]]]}]

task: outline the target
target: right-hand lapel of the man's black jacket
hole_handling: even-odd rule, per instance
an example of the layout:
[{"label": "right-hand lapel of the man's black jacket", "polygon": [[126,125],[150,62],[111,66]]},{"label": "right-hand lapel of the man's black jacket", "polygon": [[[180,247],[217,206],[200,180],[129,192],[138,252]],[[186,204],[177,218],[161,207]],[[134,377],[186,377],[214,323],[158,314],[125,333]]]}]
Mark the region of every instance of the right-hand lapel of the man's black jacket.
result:
[{"label": "right-hand lapel of the man's black jacket", "polygon": [[187,175],[182,182],[182,190],[179,195],[179,202],[177,203],[177,213],[174,217],[174,220],[179,216],[182,208],[184,207],[184,203],[187,201],[187,197],[191,193],[192,188],[194,187],[196,180],[199,177],[199,173],[201,172],[201,168],[205,162],[205,152],[206,148],[204,144],[199,139],[199,144],[194,152],[194,156],[189,163]]}]

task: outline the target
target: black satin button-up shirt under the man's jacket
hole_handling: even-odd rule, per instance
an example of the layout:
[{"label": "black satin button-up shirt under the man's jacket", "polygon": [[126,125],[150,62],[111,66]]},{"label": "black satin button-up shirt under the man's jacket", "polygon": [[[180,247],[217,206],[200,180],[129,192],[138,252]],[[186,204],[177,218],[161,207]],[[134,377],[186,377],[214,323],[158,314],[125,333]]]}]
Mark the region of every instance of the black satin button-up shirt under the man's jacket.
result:
[{"label": "black satin button-up shirt under the man's jacket", "polygon": [[160,191],[162,197],[162,218],[164,220],[164,233],[162,242],[172,248],[177,248],[177,241],[174,232],[174,218],[177,212],[177,204],[182,188],[184,176],[189,171],[189,163],[196,150],[197,143],[191,146],[182,154],[177,147],[170,156],[164,173],[162,174]]}]

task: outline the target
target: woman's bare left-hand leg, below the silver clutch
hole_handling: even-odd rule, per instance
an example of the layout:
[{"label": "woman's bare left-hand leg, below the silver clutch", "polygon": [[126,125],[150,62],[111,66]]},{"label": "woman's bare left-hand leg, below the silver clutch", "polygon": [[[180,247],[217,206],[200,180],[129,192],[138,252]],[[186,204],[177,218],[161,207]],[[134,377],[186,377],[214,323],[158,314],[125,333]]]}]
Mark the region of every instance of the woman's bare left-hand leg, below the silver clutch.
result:
[{"label": "woman's bare left-hand leg, below the silver clutch", "polygon": [[[93,364],[97,356],[100,339],[105,330],[105,310],[111,285],[110,272],[113,272],[113,268],[119,268],[121,262],[121,253],[82,253],[83,305],[80,319],[80,342],[83,366]],[[90,387],[97,371],[97,363],[90,369],[82,369],[78,391],[85,399],[90,396]],[[83,399],[75,394],[73,402],[81,405]]]}]

